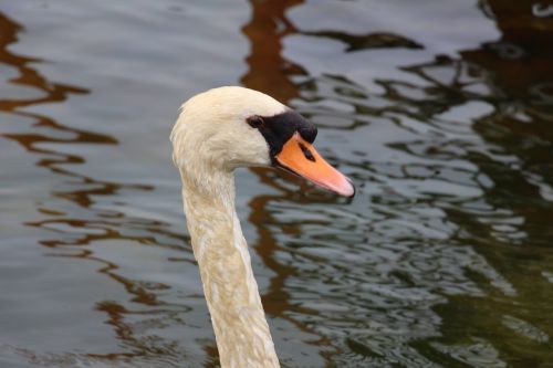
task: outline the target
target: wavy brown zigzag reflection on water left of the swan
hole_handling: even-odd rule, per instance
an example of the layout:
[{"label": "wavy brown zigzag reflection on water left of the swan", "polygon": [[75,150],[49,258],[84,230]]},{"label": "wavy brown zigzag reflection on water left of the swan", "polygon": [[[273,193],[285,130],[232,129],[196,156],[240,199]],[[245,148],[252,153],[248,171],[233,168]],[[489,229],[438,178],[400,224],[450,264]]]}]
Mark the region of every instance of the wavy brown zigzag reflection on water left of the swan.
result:
[{"label": "wavy brown zigzag reflection on water left of the swan", "polygon": [[[176,349],[174,343],[164,341],[161,337],[135,336],[135,329],[132,324],[126,322],[126,316],[145,315],[144,318],[147,320],[144,323],[156,327],[158,325],[179,322],[178,314],[187,312],[189,308],[181,304],[170,304],[158,299],[158,292],[167,288],[166,285],[134,281],[121,275],[117,273],[119,269],[117,264],[96,256],[92,246],[88,245],[97,241],[127,240],[189,253],[188,248],[180,245],[186,239],[180,234],[173,233],[168,224],[159,221],[135,219],[118,211],[94,209],[94,198],[97,196],[117,196],[122,190],[146,191],[152,190],[153,187],[142,183],[124,185],[96,180],[91,176],[74,172],[71,170],[72,165],[85,164],[84,157],[77,154],[56,151],[55,148],[44,148],[55,147],[56,145],[117,145],[117,139],[105,134],[79,129],[55,122],[49,116],[22,109],[41,104],[66,103],[73,94],[86,94],[90,92],[87,88],[49,81],[33,67],[34,64],[41,62],[40,59],[22,56],[11,52],[9,46],[18,41],[18,34],[22,29],[22,25],[0,13],[0,63],[18,72],[18,76],[7,81],[7,83],[28,87],[34,92],[40,92],[42,95],[33,98],[6,97],[0,99],[1,112],[34,122],[27,132],[0,133],[0,135],[18,143],[29,154],[35,155],[36,167],[46,169],[48,172],[59,177],[66,178],[64,181],[60,180],[62,188],[53,190],[50,193],[51,197],[64,199],[69,203],[86,210],[85,213],[88,217],[88,219],[72,218],[71,213],[67,213],[63,208],[52,208],[55,204],[50,204],[63,201],[48,201],[49,204],[36,203],[38,213],[45,218],[39,221],[30,221],[25,224],[63,233],[63,236],[60,239],[40,241],[42,245],[52,249],[52,253],[48,253],[46,255],[96,262],[101,265],[97,271],[98,273],[108,276],[124,286],[131,296],[129,302],[150,307],[145,311],[132,311],[116,302],[97,302],[95,308],[107,315],[106,323],[113,326],[117,337],[127,347],[129,353],[105,355],[83,354],[79,359],[102,358],[121,360],[129,357],[156,356],[159,354],[169,354],[178,357],[182,353]],[[143,233],[139,234],[139,232]],[[160,241],[160,236],[174,240],[174,242]],[[144,327],[142,330],[144,330]],[[21,351],[24,353],[27,350],[21,349]],[[29,356],[32,361],[55,366],[67,366],[67,359],[71,361],[75,357],[73,354],[67,354],[67,357],[64,355],[39,357],[30,351],[23,355]]]}]

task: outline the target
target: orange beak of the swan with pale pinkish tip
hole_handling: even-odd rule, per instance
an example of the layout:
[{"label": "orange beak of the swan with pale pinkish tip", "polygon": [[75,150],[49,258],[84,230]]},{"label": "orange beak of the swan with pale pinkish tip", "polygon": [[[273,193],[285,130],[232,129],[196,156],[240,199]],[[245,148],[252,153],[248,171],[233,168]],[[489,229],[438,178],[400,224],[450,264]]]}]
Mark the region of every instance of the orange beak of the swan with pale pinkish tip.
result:
[{"label": "orange beak of the swan with pale pinkish tip", "polygon": [[341,196],[355,196],[355,188],[342,172],[324,160],[296,132],[274,157],[278,166]]}]

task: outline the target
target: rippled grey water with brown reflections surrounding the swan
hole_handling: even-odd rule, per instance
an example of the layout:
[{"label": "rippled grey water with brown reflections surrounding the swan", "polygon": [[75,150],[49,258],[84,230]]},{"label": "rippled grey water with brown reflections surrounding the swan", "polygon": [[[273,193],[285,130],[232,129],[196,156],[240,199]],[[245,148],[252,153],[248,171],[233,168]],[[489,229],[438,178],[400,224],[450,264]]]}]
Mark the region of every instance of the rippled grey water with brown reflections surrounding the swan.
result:
[{"label": "rippled grey water with brown reflections surrounding the swan", "polygon": [[218,366],[168,135],[228,84],[358,189],[237,174],[284,367],[553,367],[549,2],[0,9],[2,368]]}]

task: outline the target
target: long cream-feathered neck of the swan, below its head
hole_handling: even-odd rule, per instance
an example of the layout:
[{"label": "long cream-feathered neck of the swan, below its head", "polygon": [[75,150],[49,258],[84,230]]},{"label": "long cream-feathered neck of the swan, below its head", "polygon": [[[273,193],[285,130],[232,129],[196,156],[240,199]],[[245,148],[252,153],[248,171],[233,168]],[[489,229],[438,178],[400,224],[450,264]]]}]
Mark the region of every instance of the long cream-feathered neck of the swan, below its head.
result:
[{"label": "long cream-feathered neck of the swan, below its head", "polygon": [[181,170],[181,178],[221,367],[280,367],[236,213],[232,172],[221,170],[198,180]]}]

